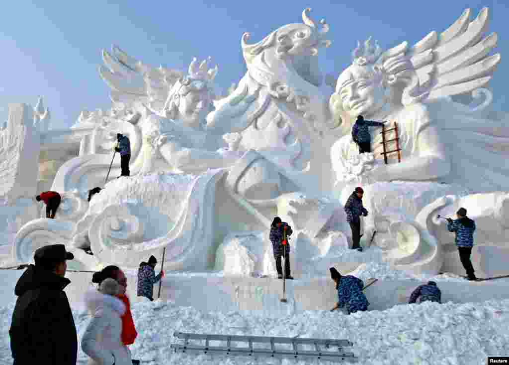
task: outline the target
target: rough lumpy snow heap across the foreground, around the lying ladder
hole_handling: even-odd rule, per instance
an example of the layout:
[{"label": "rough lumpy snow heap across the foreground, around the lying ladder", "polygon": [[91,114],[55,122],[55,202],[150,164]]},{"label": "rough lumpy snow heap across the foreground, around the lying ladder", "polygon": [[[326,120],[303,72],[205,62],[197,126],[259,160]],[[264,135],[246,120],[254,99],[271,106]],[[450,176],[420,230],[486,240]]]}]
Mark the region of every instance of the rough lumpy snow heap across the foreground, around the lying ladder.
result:
[{"label": "rough lumpy snow heap across the foreground, around the lying ladder", "polygon": [[[0,308],[0,365],[12,363],[8,329],[13,308],[14,304]],[[86,312],[73,311],[73,314],[78,333],[82,333],[90,316]],[[131,346],[133,358],[147,365],[328,363],[173,353],[169,346],[180,343],[173,337],[175,331],[347,339],[354,343],[347,350],[353,351],[366,365],[478,365],[486,363],[488,356],[509,353],[509,300],[461,305],[425,302],[350,316],[341,312],[306,311],[278,318],[242,312],[205,313],[155,301],[134,303],[132,314],[138,331]],[[78,359],[78,364],[87,362],[81,350]]]}]

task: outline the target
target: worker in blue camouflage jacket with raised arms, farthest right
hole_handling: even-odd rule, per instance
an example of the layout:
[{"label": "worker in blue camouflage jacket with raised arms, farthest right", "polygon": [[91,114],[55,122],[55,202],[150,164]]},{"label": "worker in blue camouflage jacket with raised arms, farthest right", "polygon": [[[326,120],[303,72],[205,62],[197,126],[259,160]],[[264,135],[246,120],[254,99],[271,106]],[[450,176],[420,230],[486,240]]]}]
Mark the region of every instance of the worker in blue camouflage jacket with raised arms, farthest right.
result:
[{"label": "worker in blue camouflage jacket with raised arms, farthest right", "polygon": [[467,209],[459,208],[456,212],[458,219],[447,218],[447,230],[456,232],[456,246],[460,253],[460,260],[467,272],[468,280],[477,280],[474,274],[474,267],[470,261],[472,247],[474,246],[475,222],[467,217]]}]

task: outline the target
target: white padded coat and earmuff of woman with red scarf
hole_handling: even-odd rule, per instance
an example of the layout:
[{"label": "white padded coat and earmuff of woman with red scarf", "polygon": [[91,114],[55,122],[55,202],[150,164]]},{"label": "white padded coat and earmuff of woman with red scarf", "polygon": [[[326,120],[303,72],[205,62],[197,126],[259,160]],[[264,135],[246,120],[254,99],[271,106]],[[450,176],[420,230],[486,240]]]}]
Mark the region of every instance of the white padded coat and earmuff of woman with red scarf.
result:
[{"label": "white padded coat and earmuff of woman with red scarf", "polygon": [[85,295],[92,319],[83,333],[81,349],[90,356],[89,365],[132,365],[131,352],[122,343],[122,320],[126,307],[116,297],[120,286],[114,279],[105,279],[98,290]]}]

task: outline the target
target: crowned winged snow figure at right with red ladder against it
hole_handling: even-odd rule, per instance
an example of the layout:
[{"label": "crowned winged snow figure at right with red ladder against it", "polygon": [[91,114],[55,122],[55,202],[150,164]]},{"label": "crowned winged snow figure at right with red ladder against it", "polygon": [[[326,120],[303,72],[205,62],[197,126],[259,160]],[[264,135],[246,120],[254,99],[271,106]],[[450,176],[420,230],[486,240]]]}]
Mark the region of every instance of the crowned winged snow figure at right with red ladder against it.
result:
[{"label": "crowned winged snow figure at right with red ladder against it", "polygon": [[[484,37],[487,8],[471,22],[469,16],[466,10],[446,31],[431,32],[413,47],[403,42],[382,52],[371,39],[363,46],[358,44],[352,65],[337,79],[330,98],[330,108],[346,134],[331,150],[338,180],[364,184],[439,180],[458,182],[475,191],[507,185],[508,170],[500,169],[504,153],[489,150],[509,139],[494,138],[488,130],[501,127],[500,137],[509,137],[509,129],[474,117],[491,102],[490,92],[480,88],[500,62],[500,54],[488,56],[497,35]],[[470,92],[474,98],[486,95],[487,102],[470,109],[450,98]],[[380,128],[371,130],[373,157],[359,159],[350,130],[360,114],[366,119],[398,122],[401,163],[394,163],[393,154],[388,156],[390,163],[383,164]],[[481,166],[487,172],[472,174]]]}]

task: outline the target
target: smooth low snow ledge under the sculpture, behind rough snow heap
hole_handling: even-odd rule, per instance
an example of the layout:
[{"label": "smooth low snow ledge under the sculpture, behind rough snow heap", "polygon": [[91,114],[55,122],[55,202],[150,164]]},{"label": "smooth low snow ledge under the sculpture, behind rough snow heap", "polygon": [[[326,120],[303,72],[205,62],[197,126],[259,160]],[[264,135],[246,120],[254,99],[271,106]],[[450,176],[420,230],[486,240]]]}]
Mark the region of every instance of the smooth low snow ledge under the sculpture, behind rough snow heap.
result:
[{"label": "smooth low snow ledge under the sculpture, behind rough snow heap", "polygon": [[[14,285],[22,271],[2,270],[0,279]],[[131,302],[145,300],[136,296],[135,274],[135,271],[127,272],[127,295]],[[65,288],[65,292],[71,306],[79,308],[82,306],[83,292],[92,287],[92,274],[68,272],[66,277],[71,280],[71,284]],[[362,278],[366,279],[363,276]],[[408,303],[412,290],[423,283],[425,282],[408,279],[379,280],[365,291],[367,299],[371,302],[369,310],[385,310]],[[504,279],[483,283],[463,279],[447,281],[437,279],[437,283],[442,290],[443,302],[466,303],[509,298],[509,292],[506,290],[509,281]],[[337,292],[329,277],[288,281],[288,303],[280,302],[281,290],[282,281],[272,278],[223,277],[219,273],[200,272],[168,273],[163,279],[161,299],[172,301],[176,306],[194,307],[205,313],[245,310],[263,312],[274,317],[305,310],[330,310],[337,300]],[[203,300],[204,297],[207,300]],[[12,289],[3,298],[9,302],[14,300]]]}]

